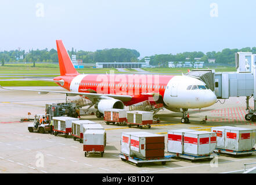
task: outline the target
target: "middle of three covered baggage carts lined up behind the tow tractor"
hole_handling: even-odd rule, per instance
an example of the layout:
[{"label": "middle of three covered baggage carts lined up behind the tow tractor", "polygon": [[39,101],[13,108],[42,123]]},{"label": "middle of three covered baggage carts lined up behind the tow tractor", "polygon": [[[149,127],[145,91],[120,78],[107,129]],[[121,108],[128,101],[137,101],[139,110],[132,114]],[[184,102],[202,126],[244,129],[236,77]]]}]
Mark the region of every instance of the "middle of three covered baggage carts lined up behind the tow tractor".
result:
[{"label": "middle of three covered baggage carts lined up behind the tow tractor", "polygon": [[82,139],[84,138],[84,124],[96,124],[90,120],[73,120],[72,121],[72,133],[73,139],[76,140],[79,138],[80,143],[82,143]]}]

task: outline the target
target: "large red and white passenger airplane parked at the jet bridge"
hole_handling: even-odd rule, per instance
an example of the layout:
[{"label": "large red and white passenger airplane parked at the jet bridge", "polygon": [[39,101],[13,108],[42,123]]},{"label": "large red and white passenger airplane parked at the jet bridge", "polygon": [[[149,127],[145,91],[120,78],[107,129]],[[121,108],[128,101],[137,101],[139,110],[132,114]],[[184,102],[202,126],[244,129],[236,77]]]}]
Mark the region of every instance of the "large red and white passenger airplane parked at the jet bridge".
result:
[{"label": "large red and white passenger airplane parked at the jet bridge", "polygon": [[124,106],[143,101],[163,103],[166,109],[183,113],[182,123],[189,123],[188,109],[205,108],[217,100],[204,82],[184,75],[80,74],[75,70],[62,40],[56,40],[56,43],[60,76],[48,81],[68,91],[5,89],[80,95],[95,103],[97,117],[102,117],[106,109],[124,109]]}]

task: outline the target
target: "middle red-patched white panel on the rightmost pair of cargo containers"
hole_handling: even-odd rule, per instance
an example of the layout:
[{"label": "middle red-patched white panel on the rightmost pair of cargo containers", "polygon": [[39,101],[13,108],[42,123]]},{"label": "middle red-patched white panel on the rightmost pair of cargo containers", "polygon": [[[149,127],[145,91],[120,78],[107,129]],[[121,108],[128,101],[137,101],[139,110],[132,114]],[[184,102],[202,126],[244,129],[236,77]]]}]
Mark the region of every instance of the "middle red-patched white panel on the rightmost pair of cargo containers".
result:
[{"label": "middle red-patched white panel on the rightmost pair of cargo containers", "polygon": [[225,130],[225,149],[228,150],[239,150],[239,131],[233,131],[230,129]]}]

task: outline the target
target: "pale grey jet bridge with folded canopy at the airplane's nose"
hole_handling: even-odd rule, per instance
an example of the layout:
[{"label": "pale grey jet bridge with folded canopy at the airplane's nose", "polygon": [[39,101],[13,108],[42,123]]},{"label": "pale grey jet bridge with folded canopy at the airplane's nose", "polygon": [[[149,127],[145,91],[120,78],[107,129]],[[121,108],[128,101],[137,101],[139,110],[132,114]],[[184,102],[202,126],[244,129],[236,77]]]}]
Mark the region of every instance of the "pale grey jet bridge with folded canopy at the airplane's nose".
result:
[{"label": "pale grey jet bridge with folded canopy at the airplane's nose", "polygon": [[[237,52],[235,54],[236,72],[215,72],[213,69],[193,69],[186,75],[202,80],[218,99],[246,97],[246,120],[256,121],[256,54]],[[254,109],[249,99],[254,99]]]}]

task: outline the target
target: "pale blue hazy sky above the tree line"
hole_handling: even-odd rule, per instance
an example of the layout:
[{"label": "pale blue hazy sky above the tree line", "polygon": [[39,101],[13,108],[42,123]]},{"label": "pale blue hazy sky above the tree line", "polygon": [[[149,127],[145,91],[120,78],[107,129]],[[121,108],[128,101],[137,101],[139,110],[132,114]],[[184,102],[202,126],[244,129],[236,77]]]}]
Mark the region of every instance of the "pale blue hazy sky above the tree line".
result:
[{"label": "pale blue hazy sky above the tree line", "polygon": [[140,57],[256,46],[256,1],[0,1],[0,50],[96,51],[125,47]]}]

